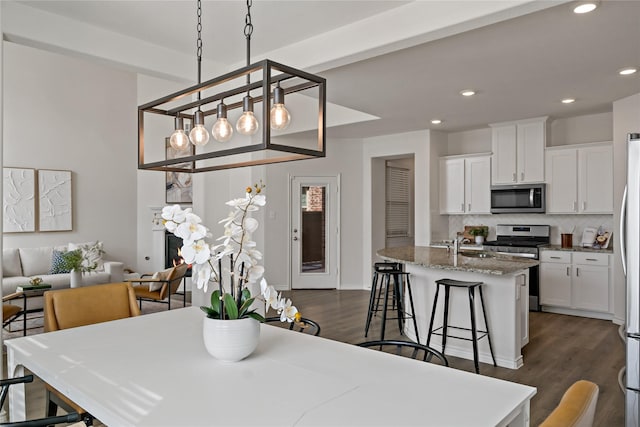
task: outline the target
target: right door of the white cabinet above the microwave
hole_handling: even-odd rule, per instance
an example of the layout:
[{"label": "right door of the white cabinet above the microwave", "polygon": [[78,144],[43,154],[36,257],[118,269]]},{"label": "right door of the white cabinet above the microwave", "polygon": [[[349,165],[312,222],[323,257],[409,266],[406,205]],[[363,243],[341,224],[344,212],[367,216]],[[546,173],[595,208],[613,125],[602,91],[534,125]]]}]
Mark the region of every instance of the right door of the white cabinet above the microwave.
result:
[{"label": "right door of the white cabinet above the microwave", "polygon": [[517,173],[518,182],[544,182],[544,122],[517,125]]}]

